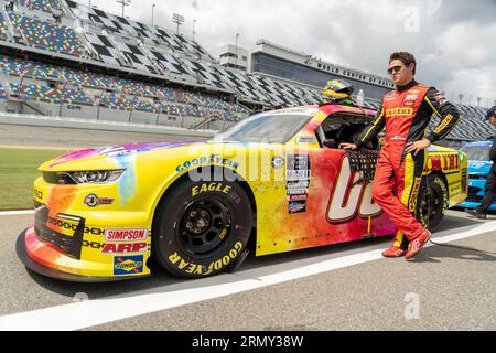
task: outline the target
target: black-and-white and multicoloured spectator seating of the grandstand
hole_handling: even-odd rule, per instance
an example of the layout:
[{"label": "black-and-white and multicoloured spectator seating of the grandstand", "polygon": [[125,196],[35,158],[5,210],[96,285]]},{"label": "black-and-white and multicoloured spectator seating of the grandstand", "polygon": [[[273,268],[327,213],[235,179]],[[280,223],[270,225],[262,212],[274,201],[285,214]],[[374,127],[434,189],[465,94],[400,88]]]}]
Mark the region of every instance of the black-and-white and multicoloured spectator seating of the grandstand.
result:
[{"label": "black-and-white and multicoloured spectator seating of the grandstand", "polygon": [[[17,40],[19,43],[82,56],[122,75],[91,72],[90,65],[84,69],[71,68],[0,55],[0,73],[6,84],[0,86],[0,99],[17,95],[19,99],[53,104],[99,105],[226,121],[237,121],[251,113],[242,104],[270,108],[321,101],[317,87],[219,66],[193,39],[88,8],[80,1],[17,0],[17,4],[13,11],[3,8],[0,11],[0,44],[19,36],[10,33],[13,28],[22,34],[22,41]],[[53,17],[54,10],[62,10],[56,12],[63,17],[61,21]],[[80,28],[82,33],[77,34],[73,28]],[[151,84],[122,78],[130,69],[138,76],[163,79]],[[176,84],[170,87],[170,82],[180,83],[184,88],[174,88],[179,87]],[[204,90],[196,86],[225,94],[201,93]],[[223,97],[226,94],[228,98]],[[377,109],[378,105],[376,100],[365,99],[367,108]],[[484,109],[456,106],[463,119],[450,138],[474,140],[494,133],[494,128],[484,121]],[[434,117],[431,126],[436,121]]]}]

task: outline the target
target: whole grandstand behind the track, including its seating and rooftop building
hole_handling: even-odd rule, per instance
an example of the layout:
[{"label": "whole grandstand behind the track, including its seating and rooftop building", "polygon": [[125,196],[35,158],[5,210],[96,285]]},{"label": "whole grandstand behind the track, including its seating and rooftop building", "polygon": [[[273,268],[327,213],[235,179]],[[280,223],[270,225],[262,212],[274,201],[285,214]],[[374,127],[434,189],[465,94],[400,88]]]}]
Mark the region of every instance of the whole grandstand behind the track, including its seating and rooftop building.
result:
[{"label": "whole grandstand behind the track, including its seating and rooftop building", "polygon": [[[273,56],[276,45],[261,43]],[[298,75],[278,76],[263,71],[266,54],[258,51],[258,72],[247,73],[220,66],[191,38],[79,2],[0,0],[0,109],[219,129],[254,111],[316,104],[326,77],[349,79],[366,95],[374,87],[365,101],[373,109],[391,88],[378,76],[303,56]],[[305,65],[327,76],[312,81]],[[451,139],[493,133],[483,109],[459,108],[465,118]]]}]

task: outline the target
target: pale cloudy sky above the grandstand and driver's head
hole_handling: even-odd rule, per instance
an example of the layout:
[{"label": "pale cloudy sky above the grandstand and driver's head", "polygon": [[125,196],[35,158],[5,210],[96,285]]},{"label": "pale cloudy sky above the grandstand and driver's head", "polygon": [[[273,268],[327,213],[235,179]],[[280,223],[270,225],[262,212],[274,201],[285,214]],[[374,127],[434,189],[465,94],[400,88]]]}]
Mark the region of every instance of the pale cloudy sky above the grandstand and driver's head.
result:
[{"label": "pale cloudy sky above the grandstand and driver's head", "polygon": [[[88,3],[88,1],[79,1]],[[93,6],[120,14],[116,0]],[[418,61],[417,79],[448,99],[496,105],[496,0],[131,0],[126,15],[176,30],[209,53],[227,43],[248,50],[267,39],[338,65],[387,77],[390,53]]]}]

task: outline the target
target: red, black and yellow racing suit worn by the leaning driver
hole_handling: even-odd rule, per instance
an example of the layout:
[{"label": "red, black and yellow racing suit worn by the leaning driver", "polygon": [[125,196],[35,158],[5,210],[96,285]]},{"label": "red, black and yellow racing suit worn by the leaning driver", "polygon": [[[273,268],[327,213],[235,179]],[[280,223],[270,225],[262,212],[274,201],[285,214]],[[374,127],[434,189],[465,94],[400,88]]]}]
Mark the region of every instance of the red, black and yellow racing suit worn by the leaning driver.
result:
[{"label": "red, black and yellow racing suit worn by the leaning driver", "polygon": [[[441,117],[441,122],[425,136],[432,114]],[[457,109],[435,88],[419,85],[413,79],[382,98],[374,125],[358,142],[358,148],[365,146],[386,127],[386,142],[377,162],[373,196],[398,229],[395,247],[408,249],[409,242],[424,232],[414,214],[428,152],[407,154],[405,146],[424,138],[432,143],[443,139],[459,118]]]}]

